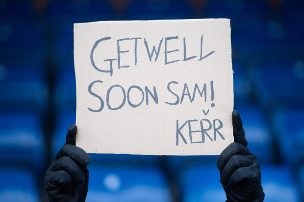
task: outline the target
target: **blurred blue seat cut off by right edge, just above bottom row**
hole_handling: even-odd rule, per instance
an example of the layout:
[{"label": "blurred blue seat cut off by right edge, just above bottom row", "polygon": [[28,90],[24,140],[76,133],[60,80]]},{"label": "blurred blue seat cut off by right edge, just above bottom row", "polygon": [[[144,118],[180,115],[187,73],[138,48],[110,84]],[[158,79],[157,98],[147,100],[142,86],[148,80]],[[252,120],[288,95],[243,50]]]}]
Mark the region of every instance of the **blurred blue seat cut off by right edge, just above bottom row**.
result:
[{"label": "blurred blue seat cut off by right edge, just above bottom row", "polygon": [[279,108],[272,114],[272,125],[278,139],[280,160],[294,163],[304,155],[304,108]]}]

